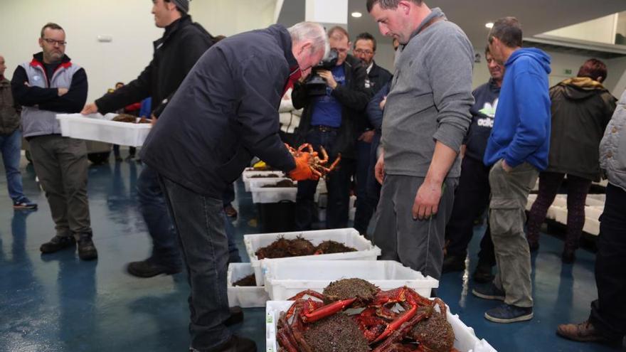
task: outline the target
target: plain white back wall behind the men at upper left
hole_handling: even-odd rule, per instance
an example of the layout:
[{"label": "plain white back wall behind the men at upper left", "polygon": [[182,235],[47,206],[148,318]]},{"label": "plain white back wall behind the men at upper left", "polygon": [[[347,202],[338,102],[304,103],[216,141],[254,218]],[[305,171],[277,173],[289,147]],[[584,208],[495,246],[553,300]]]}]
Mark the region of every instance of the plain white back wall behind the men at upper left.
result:
[{"label": "plain white back wall behind the men at upper left", "polygon": [[[190,14],[211,34],[231,36],[269,26],[274,5],[274,0],[196,0]],[[115,82],[137,78],[152,59],[152,41],[163,30],[154,26],[151,10],[147,0],[2,1],[0,55],[8,66],[6,77],[10,79],[18,64],[41,50],[37,43],[41,27],[56,22],[65,28],[65,53],[87,72],[87,99],[95,100]],[[112,36],[113,41],[98,43],[98,35]]]}]

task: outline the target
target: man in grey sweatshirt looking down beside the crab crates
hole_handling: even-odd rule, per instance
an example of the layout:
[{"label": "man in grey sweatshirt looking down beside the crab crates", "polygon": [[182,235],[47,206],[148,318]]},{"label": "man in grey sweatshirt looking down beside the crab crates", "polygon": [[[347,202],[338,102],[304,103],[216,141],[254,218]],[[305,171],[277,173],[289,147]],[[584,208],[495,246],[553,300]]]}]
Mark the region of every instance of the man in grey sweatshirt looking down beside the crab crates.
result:
[{"label": "man in grey sweatshirt looking down beside the crab crates", "polygon": [[383,188],[374,242],[382,259],[439,279],[458,154],[472,119],[474,50],[461,28],[423,1],[368,0],[367,9],[401,50],[376,164]]}]

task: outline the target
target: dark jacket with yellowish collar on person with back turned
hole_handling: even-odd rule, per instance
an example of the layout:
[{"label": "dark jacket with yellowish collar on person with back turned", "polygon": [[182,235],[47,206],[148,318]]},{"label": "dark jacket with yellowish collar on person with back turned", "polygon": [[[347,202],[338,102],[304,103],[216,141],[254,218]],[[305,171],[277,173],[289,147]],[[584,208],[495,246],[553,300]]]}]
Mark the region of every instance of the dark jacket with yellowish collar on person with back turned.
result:
[{"label": "dark jacket with yellowish collar on person with back turned", "polygon": [[546,172],[600,181],[598,146],[617,100],[590,78],[564,80],[550,89],[552,131]]}]

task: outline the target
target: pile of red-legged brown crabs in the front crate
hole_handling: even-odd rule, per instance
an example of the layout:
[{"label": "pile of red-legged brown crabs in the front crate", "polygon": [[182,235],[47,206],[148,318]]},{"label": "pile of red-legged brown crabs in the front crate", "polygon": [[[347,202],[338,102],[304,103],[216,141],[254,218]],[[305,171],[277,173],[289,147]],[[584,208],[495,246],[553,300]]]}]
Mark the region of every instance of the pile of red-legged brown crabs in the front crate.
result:
[{"label": "pile of red-legged brown crabs in the front crate", "polygon": [[278,321],[281,351],[457,351],[445,303],[408,287],[381,291],[363,279],[341,279],[290,301]]}]

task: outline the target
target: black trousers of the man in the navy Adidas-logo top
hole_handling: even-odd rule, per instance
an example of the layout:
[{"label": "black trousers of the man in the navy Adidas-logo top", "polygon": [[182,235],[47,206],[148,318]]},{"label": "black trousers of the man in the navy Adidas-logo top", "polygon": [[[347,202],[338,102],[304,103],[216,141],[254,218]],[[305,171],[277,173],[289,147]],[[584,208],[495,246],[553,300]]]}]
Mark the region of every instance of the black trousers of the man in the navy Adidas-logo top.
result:
[{"label": "black trousers of the man in the navy Adidas-logo top", "polygon": [[[455,193],[455,205],[452,217],[445,228],[447,255],[465,257],[467,245],[474,235],[474,219],[478,218],[489,206],[489,168],[482,161],[463,158],[461,178]],[[494,243],[491,231],[487,227],[480,242],[479,263],[495,265]]]}]

